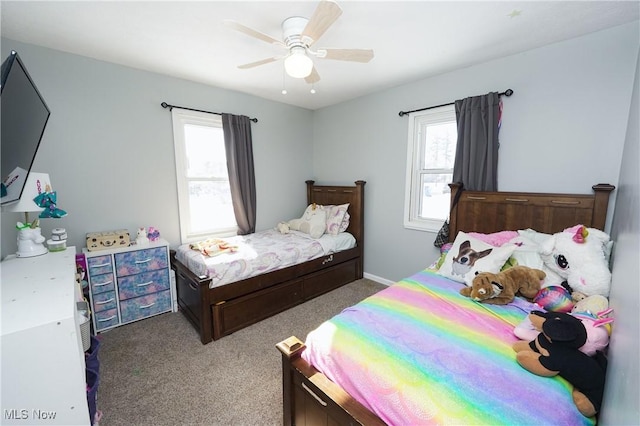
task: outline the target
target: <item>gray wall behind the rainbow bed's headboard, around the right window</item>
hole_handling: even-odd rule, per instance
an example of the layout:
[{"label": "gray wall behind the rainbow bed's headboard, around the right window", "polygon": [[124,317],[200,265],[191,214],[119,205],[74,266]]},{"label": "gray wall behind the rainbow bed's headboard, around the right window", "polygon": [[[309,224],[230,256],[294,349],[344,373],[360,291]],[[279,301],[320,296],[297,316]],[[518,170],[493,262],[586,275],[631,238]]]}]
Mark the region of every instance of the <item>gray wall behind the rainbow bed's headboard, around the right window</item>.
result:
[{"label": "gray wall behind the rainbow bed's headboard, around the right window", "polygon": [[636,21],[316,111],[316,176],[367,181],[365,272],[396,281],[437,257],[434,234],[403,227],[408,118],[399,111],[511,88],[499,189],[590,193],[618,182],[637,49]]}]

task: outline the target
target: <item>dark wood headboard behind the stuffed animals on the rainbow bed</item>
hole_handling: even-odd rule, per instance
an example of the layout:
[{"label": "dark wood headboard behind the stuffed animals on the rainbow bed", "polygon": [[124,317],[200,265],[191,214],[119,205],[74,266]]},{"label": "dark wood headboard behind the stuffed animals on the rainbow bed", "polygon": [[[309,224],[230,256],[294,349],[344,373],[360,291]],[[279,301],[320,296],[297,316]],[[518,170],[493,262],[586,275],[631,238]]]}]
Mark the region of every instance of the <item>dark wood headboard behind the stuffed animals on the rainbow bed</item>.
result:
[{"label": "dark wood headboard behind the stuffed animals on the rainbow bed", "polygon": [[609,195],[613,185],[600,183],[593,194],[554,194],[533,192],[482,192],[463,190],[451,183],[451,204],[458,191],[460,199],[449,218],[449,240],[458,231],[491,233],[535,229],[553,234],[582,224],[604,230]]}]

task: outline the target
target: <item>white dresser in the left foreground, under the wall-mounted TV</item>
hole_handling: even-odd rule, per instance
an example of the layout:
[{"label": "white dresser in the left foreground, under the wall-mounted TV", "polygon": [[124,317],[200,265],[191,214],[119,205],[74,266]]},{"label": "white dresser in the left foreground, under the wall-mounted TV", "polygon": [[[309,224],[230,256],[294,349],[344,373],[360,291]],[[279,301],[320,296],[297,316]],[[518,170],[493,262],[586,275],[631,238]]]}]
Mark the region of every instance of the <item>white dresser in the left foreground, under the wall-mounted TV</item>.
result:
[{"label": "white dresser in the left foreground, under the wall-mounted TV", "polygon": [[89,424],[75,254],[0,263],[1,424]]}]

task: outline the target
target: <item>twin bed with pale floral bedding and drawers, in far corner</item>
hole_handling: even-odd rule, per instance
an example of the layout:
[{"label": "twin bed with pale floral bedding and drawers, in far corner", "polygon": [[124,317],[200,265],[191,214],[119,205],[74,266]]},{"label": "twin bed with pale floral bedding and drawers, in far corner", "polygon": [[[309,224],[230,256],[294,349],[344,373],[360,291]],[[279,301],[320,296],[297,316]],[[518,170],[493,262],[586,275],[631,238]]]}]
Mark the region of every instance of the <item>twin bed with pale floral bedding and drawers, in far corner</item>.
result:
[{"label": "twin bed with pale floral bedding and drawers, in far corner", "polygon": [[268,230],[225,239],[231,249],[213,257],[188,245],[171,251],[178,306],[203,344],[362,278],[365,182],[306,185],[308,205],[348,204],[343,232],[316,241],[295,231]]}]

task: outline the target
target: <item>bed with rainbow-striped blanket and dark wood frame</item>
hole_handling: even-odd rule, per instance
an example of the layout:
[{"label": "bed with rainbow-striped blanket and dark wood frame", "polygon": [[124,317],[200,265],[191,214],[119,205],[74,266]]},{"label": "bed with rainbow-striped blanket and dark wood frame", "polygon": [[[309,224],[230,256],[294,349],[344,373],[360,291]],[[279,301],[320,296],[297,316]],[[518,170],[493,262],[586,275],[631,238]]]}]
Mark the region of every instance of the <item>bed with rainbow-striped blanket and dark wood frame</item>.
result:
[{"label": "bed with rainbow-striped blanket and dark wood frame", "polygon": [[[461,187],[450,186],[453,200]],[[613,189],[463,191],[450,240],[460,231],[604,229]],[[594,424],[576,409],[566,380],[516,362],[513,329],[534,305],[519,297],[478,303],[459,294],[463,286],[425,269],[347,308],[304,343],[294,336],[278,343],[284,424]]]}]

